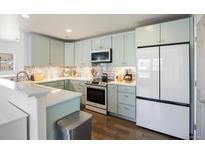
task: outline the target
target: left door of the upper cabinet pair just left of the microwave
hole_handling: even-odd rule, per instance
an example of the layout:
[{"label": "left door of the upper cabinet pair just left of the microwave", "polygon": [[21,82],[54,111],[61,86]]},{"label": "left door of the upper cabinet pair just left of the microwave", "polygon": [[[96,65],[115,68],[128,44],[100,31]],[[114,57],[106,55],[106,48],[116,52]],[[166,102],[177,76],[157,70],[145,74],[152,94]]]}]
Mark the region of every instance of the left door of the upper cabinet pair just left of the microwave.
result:
[{"label": "left door of the upper cabinet pair just left of the microwave", "polygon": [[75,42],[75,66],[82,66],[82,49],[83,44],[82,42]]}]

